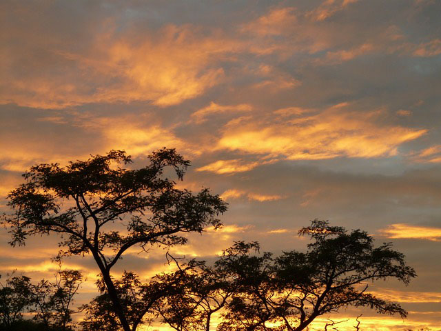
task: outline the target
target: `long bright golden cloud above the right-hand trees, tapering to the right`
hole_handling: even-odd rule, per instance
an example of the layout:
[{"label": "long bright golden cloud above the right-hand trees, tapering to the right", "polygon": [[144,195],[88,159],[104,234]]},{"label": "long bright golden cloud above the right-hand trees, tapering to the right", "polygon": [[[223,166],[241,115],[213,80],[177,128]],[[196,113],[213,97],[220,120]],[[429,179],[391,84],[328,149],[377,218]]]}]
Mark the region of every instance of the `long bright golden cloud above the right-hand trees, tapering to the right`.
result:
[{"label": "long bright golden cloud above the right-hand trees, tapering to the right", "polygon": [[398,154],[401,143],[427,132],[381,125],[380,110],[360,114],[345,110],[345,104],[337,106],[320,114],[280,121],[274,121],[274,117],[236,119],[225,126],[218,149],[280,155],[291,160],[390,157]]}]

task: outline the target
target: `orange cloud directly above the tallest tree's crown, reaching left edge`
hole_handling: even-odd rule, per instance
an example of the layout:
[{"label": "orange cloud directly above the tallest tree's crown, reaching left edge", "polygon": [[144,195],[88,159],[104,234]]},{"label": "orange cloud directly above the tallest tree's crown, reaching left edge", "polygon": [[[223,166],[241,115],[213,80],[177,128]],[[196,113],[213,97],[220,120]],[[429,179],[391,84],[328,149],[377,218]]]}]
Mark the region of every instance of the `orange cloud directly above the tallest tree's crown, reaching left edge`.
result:
[{"label": "orange cloud directly above the tallest tree's crown, reaching left edge", "polygon": [[[43,117],[43,121],[48,121]],[[50,119],[52,121],[52,119]],[[57,121],[65,122],[61,117]],[[163,128],[158,121],[148,114],[136,117],[127,115],[119,117],[96,117],[93,114],[76,114],[66,130],[81,128],[81,132],[92,134],[94,141],[88,146],[87,141],[79,140],[73,145],[65,141],[50,141],[41,143],[8,132],[8,139],[0,140],[3,155],[0,157],[0,169],[24,172],[36,163],[60,163],[65,165],[73,159],[88,159],[90,154],[103,154],[111,149],[125,150],[133,157],[145,156],[158,148],[173,147],[181,153],[194,157],[201,153],[200,146],[192,147],[176,137],[171,128]],[[12,137],[14,139],[12,139]],[[45,139],[43,137],[41,139]],[[0,189],[0,194],[1,194]]]}]

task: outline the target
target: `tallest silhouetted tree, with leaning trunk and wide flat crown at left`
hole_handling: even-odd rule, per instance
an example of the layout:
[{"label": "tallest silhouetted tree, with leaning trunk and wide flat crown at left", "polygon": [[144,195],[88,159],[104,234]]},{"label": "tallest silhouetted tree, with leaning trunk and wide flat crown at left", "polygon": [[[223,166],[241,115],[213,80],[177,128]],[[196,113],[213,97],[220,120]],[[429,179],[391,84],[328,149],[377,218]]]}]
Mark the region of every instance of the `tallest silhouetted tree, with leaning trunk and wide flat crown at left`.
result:
[{"label": "tallest silhouetted tree, with leaning trunk and wide flat crown at left", "polygon": [[[134,245],[183,244],[184,232],[218,228],[218,214],[226,203],[203,189],[198,194],[175,188],[163,176],[171,167],[183,179],[189,161],[164,148],[153,152],[150,164],[139,170],[121,168],[132,163],[124,151],[92,156],[61,167],[58,163],[35,165],[23,174],[26,182],[8,195],[14,214],[4,215],[11,227],[12,245],[23,245],[37,234],[61,234],[57,259],[91,254],[101,273],[112,310],[124,331],[136,329],[121,302],[112,267]],[[125,227],[126,234],[121,232]],[[114,254],[106,255],[106,249]]]}]

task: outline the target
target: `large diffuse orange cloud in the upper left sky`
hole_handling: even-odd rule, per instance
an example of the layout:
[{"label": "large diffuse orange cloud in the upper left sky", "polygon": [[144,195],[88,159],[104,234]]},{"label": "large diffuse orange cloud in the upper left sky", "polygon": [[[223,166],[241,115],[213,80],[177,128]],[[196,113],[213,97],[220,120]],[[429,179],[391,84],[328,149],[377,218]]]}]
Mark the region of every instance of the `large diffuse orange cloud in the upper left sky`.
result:
[{"label": "large diffuse orange cloud in the upper left sky", "polygon": [[48,50],[65,63],[62,74],[30,70],[16,77],[10,72],[0,103],[53,109],[115,101],[174,105],[218,83],[223,69],[216,59],[236,47],[236,41],[216,32],[203,37],[201,30],[190,25],[165,26],[157,33],[161,38],[148,31],[143,39],[130,34],[116,37],[111,25],[105,30],[110,32],[96,34],[93,46],[81,53],[68,52],[63,46]]}]

